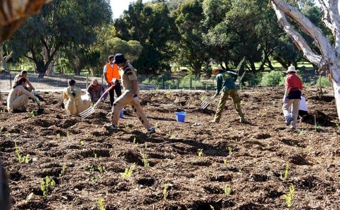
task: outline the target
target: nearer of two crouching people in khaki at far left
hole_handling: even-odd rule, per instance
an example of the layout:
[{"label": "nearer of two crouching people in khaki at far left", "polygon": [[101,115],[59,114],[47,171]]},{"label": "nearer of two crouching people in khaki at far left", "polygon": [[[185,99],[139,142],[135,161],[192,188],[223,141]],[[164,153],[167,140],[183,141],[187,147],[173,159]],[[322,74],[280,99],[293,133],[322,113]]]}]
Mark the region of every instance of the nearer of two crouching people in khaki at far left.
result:
[{"label": "nearer of two crouching people in khaki at far left", "polygon": [[37,104],[40,103],[36,96],[25,89],[27,85],[26,83],[27,79],[24,77],[21,77],[15,82],[7,97],[8,112],[13,112],[14,110],[26,111],[29,97],[31,97]]}]

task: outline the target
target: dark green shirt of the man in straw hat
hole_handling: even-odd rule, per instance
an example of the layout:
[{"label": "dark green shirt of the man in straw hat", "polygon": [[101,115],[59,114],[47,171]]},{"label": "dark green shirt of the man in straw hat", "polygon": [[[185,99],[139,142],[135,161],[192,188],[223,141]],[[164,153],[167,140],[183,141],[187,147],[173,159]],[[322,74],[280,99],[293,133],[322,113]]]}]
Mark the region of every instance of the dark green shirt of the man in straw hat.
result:
[{"label": "dark green shirt of the man in straw hat", "polygon": [[220,94],[221,90],[236,90],[235,81],[238,78],[238,74],[232,71],[223,71],[216,76],[216,95]]}]

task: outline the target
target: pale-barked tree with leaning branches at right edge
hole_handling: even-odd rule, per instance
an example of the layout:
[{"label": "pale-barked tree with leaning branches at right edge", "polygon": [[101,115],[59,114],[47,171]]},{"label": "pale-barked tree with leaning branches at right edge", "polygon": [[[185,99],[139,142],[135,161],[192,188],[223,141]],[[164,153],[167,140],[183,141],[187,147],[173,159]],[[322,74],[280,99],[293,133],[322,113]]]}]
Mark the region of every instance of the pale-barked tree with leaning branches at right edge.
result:
[{"label": "pale-barked tree with leaning branches at right edge", "polygon": [[[298,9],[283,0],[271,0],[272,7],[283,30],[293,39],[295,45],[304,52],[304,56],[311,63],[325,69],[333,82],[334,97],[336,99],[338,116],[340,119],[340,15],[338,0],[319,0],[323,10],[323,22],[335,36],[336,43],[333,47],[322,31],[317,28]],[[292,28],[287,21],[288,16],[296,22],[301,29],[314,39],[320,49],[321,55],[317,55],[306,40]]]}]

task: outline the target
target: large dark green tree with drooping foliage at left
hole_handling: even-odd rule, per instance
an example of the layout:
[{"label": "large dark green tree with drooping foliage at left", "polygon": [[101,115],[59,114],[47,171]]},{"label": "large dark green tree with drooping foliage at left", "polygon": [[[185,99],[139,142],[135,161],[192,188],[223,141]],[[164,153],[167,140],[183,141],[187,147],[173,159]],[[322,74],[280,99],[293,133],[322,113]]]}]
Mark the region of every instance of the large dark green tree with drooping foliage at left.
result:
[{"label": "large dark green tree with drooping foliage at left", "polygon": [[15,53],[34,62],[42,77],[59,51],[71,45],[90,45],[96,40],[93,29],[110,20],[107,0],[54,0],[39,15],[30,17],[9,43]]}]

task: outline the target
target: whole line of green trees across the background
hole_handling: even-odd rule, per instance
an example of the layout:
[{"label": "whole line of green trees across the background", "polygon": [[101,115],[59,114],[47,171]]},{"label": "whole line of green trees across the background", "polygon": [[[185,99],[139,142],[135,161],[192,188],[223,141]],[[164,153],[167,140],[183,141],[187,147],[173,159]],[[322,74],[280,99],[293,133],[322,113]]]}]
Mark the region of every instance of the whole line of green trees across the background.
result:
[{"label": "whole line of green trees across the background", "polygon": [[[312,0],[293,3],[331,39]],[[31,62],[41,77],[100,74],[116,52],[126,54],[139,74],[187,67],[198,76],[216,64],[235,69],[243,58],[239,73],[256,73],[273,70],[272,61],[287,68],[303,60],[268,0],[136,0],[115,20],[108,0],[54,0],[3,42],[3,56],[12,51],[8,62]]]}]

